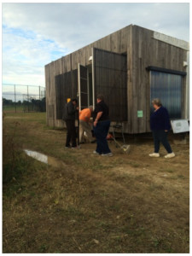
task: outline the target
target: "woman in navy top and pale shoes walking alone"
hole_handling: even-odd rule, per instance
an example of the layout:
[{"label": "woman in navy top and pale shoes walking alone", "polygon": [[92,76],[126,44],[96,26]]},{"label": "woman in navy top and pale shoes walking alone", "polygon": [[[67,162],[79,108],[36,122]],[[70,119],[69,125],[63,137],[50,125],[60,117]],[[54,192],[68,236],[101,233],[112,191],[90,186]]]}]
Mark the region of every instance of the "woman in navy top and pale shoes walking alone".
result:
[{"label": "woman in navy top and pale shoes walking alone", "polygon": [[149,154],[149,156],[160,157],[160,143],[162,143],[168,153],[165,158],[172,158],[175,154],[172,152],[172,148],[167,140],[168,131],[171,130],[169,113],[167,109],[162,106],[160,99],[154,99],[152,104],[154,113],[151,114],[150,126],[154,137],[154,153]]}]

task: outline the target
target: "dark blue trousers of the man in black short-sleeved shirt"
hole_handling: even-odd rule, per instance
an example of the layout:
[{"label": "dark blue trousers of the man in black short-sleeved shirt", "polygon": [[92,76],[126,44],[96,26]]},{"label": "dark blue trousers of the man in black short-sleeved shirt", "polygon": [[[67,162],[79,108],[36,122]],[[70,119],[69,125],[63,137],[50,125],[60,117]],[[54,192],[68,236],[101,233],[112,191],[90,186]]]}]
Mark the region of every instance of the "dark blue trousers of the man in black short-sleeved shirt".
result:
[{"label": "dark blue trousers of the man in black short-sleeved shirt", "polygon": [[99,154],[108,154],[111,150],[108,148],[108,130],[110,127],[110,121],[98,122],[96,127],[93,127],[94,134],[96,136],[96,152]]}]

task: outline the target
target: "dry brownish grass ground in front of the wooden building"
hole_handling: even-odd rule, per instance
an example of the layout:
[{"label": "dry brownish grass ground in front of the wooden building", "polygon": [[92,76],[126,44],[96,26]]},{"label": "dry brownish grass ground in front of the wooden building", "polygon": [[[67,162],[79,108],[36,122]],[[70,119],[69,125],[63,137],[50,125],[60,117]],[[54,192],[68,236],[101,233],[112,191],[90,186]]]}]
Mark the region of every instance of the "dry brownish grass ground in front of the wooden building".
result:
[{"label": "dry brownish grass ground in front of the wooden building", "polygon": [[151,140],[128,155],[110,143],[113,158],[102,158],[94,144],[64,148],[45,113],[6,113],[3,129],[63,162],[22,155],[26,172],[3,185],[3,253],[189,253],[189,144],[166,160],[149,159]]}]

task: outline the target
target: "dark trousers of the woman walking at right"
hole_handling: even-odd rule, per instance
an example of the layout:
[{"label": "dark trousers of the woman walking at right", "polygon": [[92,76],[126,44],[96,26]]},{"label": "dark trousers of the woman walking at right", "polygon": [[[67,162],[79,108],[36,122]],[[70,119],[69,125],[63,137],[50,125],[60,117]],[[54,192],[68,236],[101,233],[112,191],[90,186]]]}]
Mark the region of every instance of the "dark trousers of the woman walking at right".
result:
[{"label": "dark trousers of the woman walking at right", "polygon": [[168,153],[172,153],[172,148],[167,139],[168,132],[164,130],[155,130],[153,131],[154,136],[154,153],[159,153],[160,143],[163,144],[164,148]]}]

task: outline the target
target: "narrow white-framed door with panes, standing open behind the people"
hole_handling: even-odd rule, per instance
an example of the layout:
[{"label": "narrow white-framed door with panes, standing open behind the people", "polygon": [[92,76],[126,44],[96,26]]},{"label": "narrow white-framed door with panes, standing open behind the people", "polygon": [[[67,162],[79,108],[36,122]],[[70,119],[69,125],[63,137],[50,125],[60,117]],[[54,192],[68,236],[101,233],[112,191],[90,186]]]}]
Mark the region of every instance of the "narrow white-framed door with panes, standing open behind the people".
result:
[{"label": "narrow white-framed door with panes, standing open behind the people", "polygon": [[78,91],[79,91],[79,110],[88,108],[90,105],[89,96],[89,71],[87,67],[79,64],[78,68]]}]

